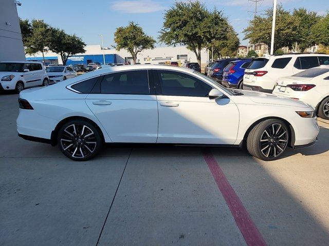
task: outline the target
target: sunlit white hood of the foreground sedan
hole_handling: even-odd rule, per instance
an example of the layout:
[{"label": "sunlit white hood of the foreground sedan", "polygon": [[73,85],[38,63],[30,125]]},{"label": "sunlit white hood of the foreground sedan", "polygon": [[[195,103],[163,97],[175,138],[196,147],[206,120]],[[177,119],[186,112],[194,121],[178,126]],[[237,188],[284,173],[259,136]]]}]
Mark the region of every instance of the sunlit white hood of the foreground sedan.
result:
[{"label": "sunlit white hood of the foreground sedan", "polygon": [[253,103],[257,104],[268,104],[268,105],[281,105],[281,106],[291,106],[291,107],[301,107],[308,108],[309,105],[303,103],[299,100],[290,99],[283,96],[277,96],[265,92],[257,91],[246,91],[246,90],[237,90],[243,93],[242,97],[249,98]]}]

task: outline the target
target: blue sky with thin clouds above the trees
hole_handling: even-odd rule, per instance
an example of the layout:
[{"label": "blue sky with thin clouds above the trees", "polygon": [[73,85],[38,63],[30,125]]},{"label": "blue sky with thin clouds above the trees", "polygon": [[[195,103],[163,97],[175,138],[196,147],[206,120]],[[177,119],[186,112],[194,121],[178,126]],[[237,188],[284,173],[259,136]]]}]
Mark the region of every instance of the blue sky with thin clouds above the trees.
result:
[{"label": "blue sky with thin clouds above the trees", "polygon": [[[186,0],[184,0],[186,1]],[[162,27],[163,16],[174,0],[20,0],[17,6],[19,16],[23,19],[43,19],[53,27],[64,29],[66,33],[76,34],[87,45],[101,45],[103,34],[104,46],[111,47],[114,43],[114,32],[117,27],[126,26],[130,21],[138,23],[148,35],[156,40]],[[209,10],[216,7],[224,12],[235,31],[243,40],[243,29],[248,26],[255,10],[255,4],[248,0],[204,0]],[[284,9],[304,7],[316,11],[320,15],[329,10],[329,0],[278,0]],[[273,5],[273,0],[258,2],[257,9],[261,12]],[[156,46],[165,46],[158,43]]]}]

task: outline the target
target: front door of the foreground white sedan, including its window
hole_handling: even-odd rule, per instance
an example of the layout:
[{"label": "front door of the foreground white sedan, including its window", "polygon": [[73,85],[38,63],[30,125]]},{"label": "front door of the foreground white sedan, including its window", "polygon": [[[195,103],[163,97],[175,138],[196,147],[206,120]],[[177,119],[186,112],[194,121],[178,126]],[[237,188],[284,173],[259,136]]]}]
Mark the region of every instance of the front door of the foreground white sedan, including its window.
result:
[{"label": "front door of the foreground white sedan, including its window", "polygon": [[210,84],[183,72],[156,70],[159,143],[232,145],[239,111],[229,99],[211,100]]}]

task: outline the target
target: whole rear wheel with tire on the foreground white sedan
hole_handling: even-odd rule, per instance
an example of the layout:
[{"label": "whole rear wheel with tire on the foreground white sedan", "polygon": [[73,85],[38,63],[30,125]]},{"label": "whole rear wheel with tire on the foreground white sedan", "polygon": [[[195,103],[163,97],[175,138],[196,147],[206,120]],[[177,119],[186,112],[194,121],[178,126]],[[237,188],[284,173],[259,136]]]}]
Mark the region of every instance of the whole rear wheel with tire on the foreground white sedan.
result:
[{"label": "whole rear wheel with tire on the foreground white sedan", "polygon": [[61,126],[57,142],[64,155],[77,161],[92,159],[103,146],[98,128],[83,119],[70,120]]}]

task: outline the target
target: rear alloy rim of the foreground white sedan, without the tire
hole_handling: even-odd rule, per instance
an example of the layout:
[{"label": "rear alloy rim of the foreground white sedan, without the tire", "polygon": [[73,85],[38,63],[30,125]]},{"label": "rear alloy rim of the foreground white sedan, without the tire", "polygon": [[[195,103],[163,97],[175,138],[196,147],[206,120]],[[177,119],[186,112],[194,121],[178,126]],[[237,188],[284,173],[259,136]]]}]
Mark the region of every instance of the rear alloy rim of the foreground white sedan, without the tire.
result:
[{"label": "rear alloy rim of the foreground white sedan, without the tire", "polygon": [[72,124],[66,127],[61,136],[63,150],[74,158],[85,158],[96,149],[96,135],[83,124]]}]

